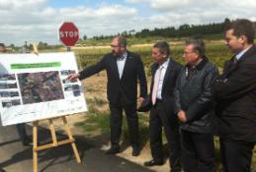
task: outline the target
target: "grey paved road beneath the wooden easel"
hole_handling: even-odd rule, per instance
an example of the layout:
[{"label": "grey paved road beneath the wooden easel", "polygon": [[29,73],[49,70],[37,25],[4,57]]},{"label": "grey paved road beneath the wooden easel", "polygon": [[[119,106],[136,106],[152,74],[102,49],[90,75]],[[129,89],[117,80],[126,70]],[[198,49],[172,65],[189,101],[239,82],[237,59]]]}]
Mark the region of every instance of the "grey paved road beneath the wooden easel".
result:
[{"label": "grey paved road beneath the wooden easel", "polygon": [[[27,128],[31,133],[32,127]],[[48,143],[48,138],[48,131],[40,129],[40,142]],[[39,153],[39,172],[152,172],[119,156],[106,155],[85,138],[76,141],[81,164],[76,163],[71,145],[66,144]],[[32,147],[22,145],[15,126],[0,127],[0,167],[7,172],[33,172]]]}]

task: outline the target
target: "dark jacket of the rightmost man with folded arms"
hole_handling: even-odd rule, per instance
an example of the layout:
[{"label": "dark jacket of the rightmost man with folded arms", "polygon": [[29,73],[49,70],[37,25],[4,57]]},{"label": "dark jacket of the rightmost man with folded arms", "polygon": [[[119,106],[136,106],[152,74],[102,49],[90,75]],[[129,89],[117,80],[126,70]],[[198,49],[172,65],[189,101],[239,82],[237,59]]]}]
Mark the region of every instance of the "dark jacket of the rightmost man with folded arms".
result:
[{"label": "dark jacket of the rightmost man with folded arms", "polygon": [[[234,58],[234,57],[233,57]],[[256,47],[232,64],[224,65],[223,74],[214,84],[216,115],[221,138],[234,141],[256,141]]]}]

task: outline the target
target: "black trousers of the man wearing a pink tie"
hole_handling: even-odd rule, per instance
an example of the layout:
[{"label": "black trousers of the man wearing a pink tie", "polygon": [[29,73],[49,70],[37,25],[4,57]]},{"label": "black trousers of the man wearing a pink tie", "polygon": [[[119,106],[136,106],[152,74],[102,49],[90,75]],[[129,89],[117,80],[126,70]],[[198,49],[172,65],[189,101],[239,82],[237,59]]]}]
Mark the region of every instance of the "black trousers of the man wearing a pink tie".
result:
[{"label": "black trousers of the man wearing a pink tie", "polygon": [[181,171],[181,147],[179,125],[172,119],[174,114],[166,114],[162,102],[157,102],[150,111],[149,133],[151,154],[155,161],[163,161],[162,127],[169,146],[169,157],[172,172]]}]

